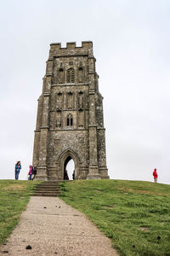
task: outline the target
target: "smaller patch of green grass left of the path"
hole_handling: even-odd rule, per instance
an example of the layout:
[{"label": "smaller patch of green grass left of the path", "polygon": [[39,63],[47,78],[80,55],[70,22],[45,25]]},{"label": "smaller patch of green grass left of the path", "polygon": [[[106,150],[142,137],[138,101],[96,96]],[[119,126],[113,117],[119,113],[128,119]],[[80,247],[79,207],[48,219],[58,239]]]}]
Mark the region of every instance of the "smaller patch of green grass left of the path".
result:
[{"label": "smaller patch of green grass left of the path", "polygon": [[38,182],[0,180],[0,245],[19,223],[30,195]]}]

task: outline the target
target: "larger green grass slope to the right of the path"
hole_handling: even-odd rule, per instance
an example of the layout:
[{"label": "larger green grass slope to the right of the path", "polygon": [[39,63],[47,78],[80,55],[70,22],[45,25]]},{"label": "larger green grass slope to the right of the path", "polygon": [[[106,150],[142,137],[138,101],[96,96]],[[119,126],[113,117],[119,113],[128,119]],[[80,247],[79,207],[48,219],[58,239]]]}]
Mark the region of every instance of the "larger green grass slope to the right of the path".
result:
[{"label": "larger green grass slope to the right of the path", "polygon": [[60,197],[84,212],[121,255],[170,255],[169,185],[77,180],[60,186]]}]

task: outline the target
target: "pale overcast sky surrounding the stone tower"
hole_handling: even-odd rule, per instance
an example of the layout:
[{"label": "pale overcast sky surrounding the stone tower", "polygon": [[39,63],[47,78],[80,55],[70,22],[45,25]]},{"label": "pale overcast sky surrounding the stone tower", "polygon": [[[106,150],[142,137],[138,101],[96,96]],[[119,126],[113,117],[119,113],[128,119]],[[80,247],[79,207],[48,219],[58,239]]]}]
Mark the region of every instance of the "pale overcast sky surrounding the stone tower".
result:
[{"label": "pale overcast sky surrounding the stone tower", "polygon": [[49,44],[91,40],[111,178],[170,183],[170,1],[0,3],[0,178],[32,161]]}]

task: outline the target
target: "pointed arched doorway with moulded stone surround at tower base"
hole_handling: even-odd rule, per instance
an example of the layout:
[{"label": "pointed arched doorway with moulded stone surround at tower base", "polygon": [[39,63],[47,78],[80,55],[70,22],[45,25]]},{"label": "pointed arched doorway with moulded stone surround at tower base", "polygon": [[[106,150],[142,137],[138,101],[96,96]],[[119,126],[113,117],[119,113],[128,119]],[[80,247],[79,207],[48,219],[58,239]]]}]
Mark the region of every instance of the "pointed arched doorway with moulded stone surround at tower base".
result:
[{"label": "pointed arched doorway with moulded stone surround at tower base", "polygon": [[61,179],[68,179],[65,175],[65,171],[67,171],[69,179],[72,179],[72,174],[74,172],[74,178],[77,179],[79,177],[79,165],[80,160],[77,156],[77,153],[72,151],[71,149],[65,150],[62,154],[59,156],[59,173]]}]

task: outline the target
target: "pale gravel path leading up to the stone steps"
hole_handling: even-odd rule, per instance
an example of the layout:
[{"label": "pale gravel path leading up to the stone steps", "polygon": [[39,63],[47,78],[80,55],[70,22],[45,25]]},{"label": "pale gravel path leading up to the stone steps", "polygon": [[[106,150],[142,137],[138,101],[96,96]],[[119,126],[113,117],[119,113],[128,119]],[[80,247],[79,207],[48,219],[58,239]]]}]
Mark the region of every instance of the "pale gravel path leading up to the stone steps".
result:
[{"label": "pale gravel path leading up to the stone steps", "polygon": [[[26,247],[30,246],[30,249]],[[111,241],[57,197],[32,196],[0,255],[115,256]]]}]

